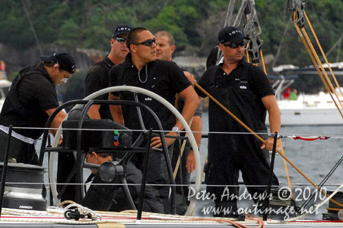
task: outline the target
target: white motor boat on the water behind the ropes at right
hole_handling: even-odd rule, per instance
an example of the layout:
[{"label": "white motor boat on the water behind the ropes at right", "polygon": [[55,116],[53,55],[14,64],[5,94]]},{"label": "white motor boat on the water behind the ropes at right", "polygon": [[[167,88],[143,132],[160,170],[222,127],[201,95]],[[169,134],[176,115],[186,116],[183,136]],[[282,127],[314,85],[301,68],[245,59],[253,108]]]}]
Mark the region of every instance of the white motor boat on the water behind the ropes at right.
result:
[{"label": "white motor boat on the water behind the ropes at right", "polygon": [[[335,72],[340,72],[342,68],[342,62],[330,64],[332,68],[335,68]],[[311,68],[309,66],[308,68]],[[282,65],[273,68],[276,73],[284,73],[284,71],[294,71],[295,75],[288,75],[287,77],[279,75],[276,77],[270,77],[274,83],[272,84],[276,99],[278,101],[280,113],[281,113],[281,125],[343,125],[343,118],[338,110],[343,110],[340,102],[343,102],[343,97],[340,95],[340,90],[335,89],[338,94],[340,102],[333,94],[335,101],[338,105],[336,107],[333,99],[329,93],[319,92],[318,94],[303,94],[300,93],[297,99],[283,99],[283,91],[291,86],[298,75],[305,74],[304,70],[300,71],[298,66]],[[343,88],[341,88],[343,90]],[[269,118],[265,120],[265,123],[269,125]]]}]

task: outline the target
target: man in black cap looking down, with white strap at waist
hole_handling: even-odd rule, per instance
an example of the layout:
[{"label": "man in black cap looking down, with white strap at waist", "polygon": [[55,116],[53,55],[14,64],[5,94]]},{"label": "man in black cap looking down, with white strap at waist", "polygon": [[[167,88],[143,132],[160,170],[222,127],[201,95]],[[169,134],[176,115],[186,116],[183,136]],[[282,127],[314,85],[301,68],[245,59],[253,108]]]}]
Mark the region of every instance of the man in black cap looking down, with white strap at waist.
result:
[{"label": "man in black cap looking down, with white strap at waist", "polygon": [[[0,114],[0,160],[3,161],[8,139],[8,127],[12,125],[9,158],[16,162],[38,164],[34,142],[43,133],[47,118],[58,107],[56,88],[76,71],[75,60],[64,51],[42,55],[40,64],[27,66],[19,71],[12,82]],[[58,128],[66,115],[59,112],[51,123]],[[24,128],[16,128],[24,127]],[[51,129],[56,134],[56,129]]]}]

